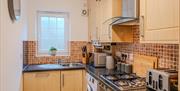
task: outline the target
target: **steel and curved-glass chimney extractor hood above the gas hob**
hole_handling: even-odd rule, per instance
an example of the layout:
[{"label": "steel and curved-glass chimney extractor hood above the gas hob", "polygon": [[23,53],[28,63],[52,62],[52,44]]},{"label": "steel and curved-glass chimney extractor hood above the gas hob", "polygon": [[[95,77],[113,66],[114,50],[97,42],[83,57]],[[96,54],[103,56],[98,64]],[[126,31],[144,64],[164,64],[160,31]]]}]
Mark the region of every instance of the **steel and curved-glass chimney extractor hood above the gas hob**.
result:
[{"label": "steel and curved-glass chimney extractor hood above the gas hob", "polygon": [[104,23],[109,25],[136,25],[139,18],[139,1],[122,0],[122,16],[112,17]]}]

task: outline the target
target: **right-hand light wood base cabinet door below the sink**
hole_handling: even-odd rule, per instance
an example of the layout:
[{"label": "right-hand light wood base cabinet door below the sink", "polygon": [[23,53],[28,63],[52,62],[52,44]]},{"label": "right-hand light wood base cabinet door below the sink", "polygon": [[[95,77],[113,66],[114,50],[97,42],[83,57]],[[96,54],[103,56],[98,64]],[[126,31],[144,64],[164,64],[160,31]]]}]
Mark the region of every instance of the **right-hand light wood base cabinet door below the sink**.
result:
[{"label": "right-hand light wood base cabinet door below the sink", "polygon": [[82,91],[82,70],[61,71],[61,91]]}]

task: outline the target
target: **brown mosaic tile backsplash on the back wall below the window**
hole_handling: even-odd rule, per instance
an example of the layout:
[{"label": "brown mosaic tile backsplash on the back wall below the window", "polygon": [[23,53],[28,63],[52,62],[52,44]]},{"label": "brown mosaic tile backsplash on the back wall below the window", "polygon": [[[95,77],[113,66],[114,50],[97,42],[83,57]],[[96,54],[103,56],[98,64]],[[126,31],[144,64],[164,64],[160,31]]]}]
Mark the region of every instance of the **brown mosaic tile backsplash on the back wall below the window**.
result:
[{"label": "brown mosaic tile backsplash on the back wall below the window", "polygon": [[81,47],[86,45],[87,50],[91,51],[91,44],[85,41],[70,42],[70,56],[36,56],[37,45],[36,41],[24,41],[24,61],[27,64],[54,64],[56,60],[64,60],[65,62],[81,62],[82,51]]}]

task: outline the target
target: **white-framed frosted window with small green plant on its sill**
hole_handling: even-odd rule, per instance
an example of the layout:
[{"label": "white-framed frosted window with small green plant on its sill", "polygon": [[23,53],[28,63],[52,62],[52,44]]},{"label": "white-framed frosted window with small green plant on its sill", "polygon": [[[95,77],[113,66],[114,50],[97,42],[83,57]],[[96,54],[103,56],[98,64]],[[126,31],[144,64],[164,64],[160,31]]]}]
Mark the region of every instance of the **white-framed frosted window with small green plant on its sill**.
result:
[{"label": "white-framed frosted window with small green plant on its sill", "polygon": [[38,55],[48,55],[57,49],[57,55],[69,55],[68,13],[38,12]]}]

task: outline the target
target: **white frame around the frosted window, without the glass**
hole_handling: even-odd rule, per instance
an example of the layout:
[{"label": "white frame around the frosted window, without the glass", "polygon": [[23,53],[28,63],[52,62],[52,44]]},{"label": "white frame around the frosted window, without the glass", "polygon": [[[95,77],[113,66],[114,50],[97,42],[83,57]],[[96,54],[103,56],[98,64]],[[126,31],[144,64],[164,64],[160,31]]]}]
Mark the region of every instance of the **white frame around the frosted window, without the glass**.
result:
[{"label": "white frame around the frosted window, without the glass", "polygon": [[66,44],[65,50],[58,50],[56,56],[69,56],[70,55],[70,23],[69,23],[69,13],[67,12],[50,12],[50,11],[38,11],[37,12],[37,43],[36,43],[36,55],[37,56],[50,56],[48,50],[40,50],[39,41],[41,37],[41,17],[60,17],[64,18],[64,42]]}]

